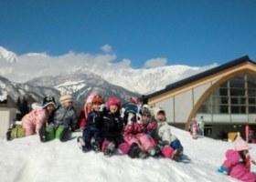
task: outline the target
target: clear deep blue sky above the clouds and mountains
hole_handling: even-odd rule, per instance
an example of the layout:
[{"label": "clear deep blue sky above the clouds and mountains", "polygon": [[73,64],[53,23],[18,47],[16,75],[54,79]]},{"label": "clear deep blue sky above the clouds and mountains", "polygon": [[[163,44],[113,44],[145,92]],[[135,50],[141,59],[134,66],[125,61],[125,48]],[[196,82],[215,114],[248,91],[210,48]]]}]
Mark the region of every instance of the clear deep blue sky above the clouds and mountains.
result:
[{"label": "clear deep blue sky above the clouds and mountains", "polygon": [[133,67],[157,57],[188,66],[256,61],[255,9],[254,0],[0,0],[0,45],[58,56],[107,44]]}]

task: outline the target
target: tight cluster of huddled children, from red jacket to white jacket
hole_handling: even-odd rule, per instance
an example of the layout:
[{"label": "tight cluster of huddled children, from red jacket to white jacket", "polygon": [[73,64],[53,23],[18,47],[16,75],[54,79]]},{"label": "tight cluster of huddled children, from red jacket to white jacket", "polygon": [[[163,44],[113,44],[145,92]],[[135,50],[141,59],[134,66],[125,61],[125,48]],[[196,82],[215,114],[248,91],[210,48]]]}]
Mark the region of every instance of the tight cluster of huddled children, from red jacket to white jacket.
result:
[{"label": "tight cluster of huddled children, from red jacket to white jacket", "polygon": [[101,151],[106,156],[117,152],[133,158],[162,155],[176,160],[183,153],[165,121],[164,110],[158,109],[154,117],[148,106],[126,103],[122,107],[121,100],[114,96],[104,103],[101,95],[91,94],[79,125],[83,130],[77,142],[83,152]]}]

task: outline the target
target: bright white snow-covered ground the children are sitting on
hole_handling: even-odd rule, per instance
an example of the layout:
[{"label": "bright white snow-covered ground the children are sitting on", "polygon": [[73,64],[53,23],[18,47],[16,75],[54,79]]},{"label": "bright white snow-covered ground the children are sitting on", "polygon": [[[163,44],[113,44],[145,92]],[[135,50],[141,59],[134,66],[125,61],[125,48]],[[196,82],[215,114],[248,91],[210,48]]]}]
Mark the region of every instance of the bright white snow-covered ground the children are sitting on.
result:
[{"label": "bright white snow-covered ground the children are sitting on", "polygon": [[[191,158],[189,164],[165,158],[131,159],[127,156],[104,157],[102,153],[82,153],[76,139],[60,143],[40,143],[38,136],[11,142],[0,141],[0,181],[187,181],[227,182],[235,179],[217,172],[231,143],[210,138],[191,139],[186,131],[173,127]],[[80,134],[75,134],[76,136]],[[255,157],[256,147],[251,146]],[[256,167],[252,167],[256,171]]]}]

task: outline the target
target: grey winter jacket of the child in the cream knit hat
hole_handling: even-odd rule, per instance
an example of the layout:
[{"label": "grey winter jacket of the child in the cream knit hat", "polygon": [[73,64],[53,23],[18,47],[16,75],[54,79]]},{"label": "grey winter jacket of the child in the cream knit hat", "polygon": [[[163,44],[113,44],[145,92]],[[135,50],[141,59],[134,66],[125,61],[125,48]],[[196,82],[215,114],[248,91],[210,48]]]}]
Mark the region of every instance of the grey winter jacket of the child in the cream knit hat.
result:
[{"label": "grey winter jacket of the child in the cream knit hat", "polygon": [[77,114],[73,106],[59,106],[54,113],[53,122],[55,125],[63,125],[75,130],[77,126]]}]

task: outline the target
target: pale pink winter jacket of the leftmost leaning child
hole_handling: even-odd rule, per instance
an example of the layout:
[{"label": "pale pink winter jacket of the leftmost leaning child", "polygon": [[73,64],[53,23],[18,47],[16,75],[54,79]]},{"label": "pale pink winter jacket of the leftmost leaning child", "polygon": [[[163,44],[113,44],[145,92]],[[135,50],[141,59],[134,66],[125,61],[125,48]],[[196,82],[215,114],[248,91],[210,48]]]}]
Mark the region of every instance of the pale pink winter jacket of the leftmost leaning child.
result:
[{"label": "pale pink winter jacket of the leftmost leaning child", "polygon": [[42,108],[30,111],[21,120],[22,127],[25,129],[26,136],[31,136],[38,133],[38,130],[47,122],[47,111]]}]

